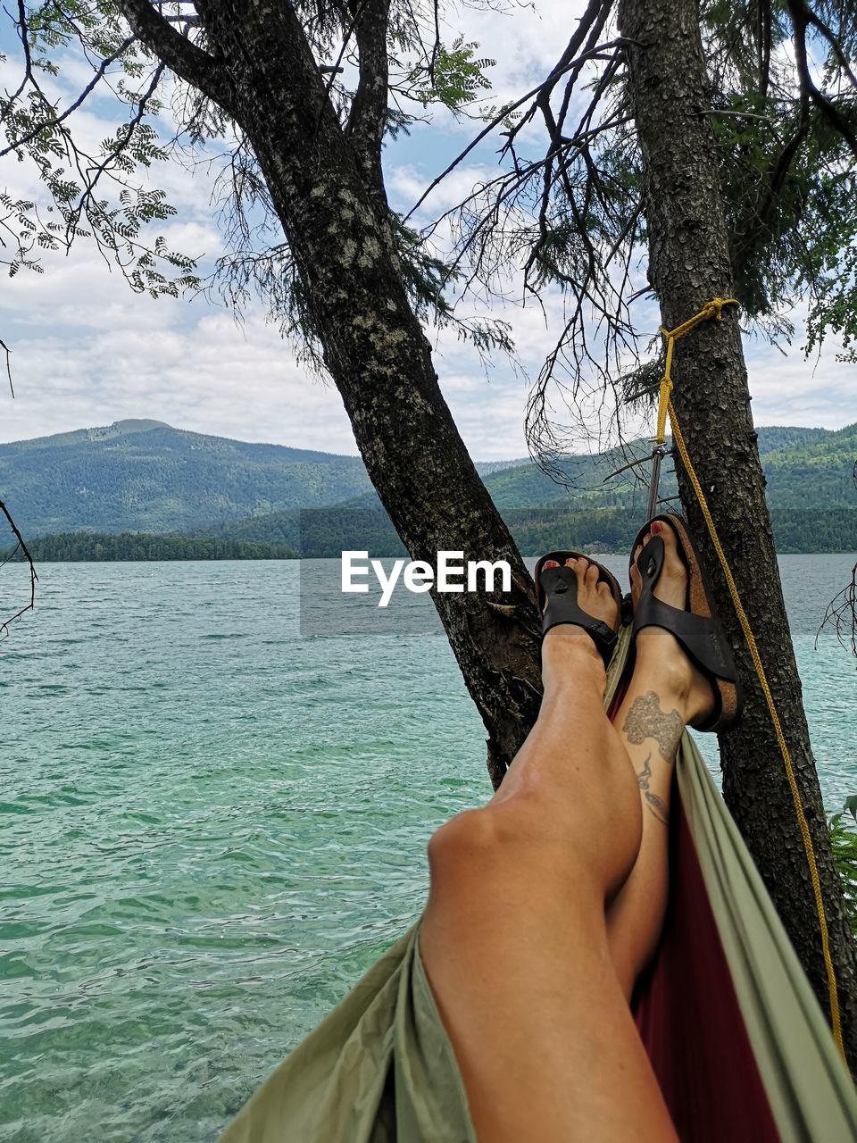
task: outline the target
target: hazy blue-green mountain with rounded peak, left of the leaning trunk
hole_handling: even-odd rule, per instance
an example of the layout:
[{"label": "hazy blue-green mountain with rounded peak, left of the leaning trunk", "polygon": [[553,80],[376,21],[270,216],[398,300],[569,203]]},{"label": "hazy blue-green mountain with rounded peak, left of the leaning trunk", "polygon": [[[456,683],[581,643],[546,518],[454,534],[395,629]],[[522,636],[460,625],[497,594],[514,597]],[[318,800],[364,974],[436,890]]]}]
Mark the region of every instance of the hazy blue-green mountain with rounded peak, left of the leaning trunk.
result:
[{"label": "hazy blue-green mountain with rounded peak, left of the leaning trunk", "polygon": [[0,445],[0,495],[29,536],[186,531],[370,488],[353,456],[249,445],[158,421]]}]

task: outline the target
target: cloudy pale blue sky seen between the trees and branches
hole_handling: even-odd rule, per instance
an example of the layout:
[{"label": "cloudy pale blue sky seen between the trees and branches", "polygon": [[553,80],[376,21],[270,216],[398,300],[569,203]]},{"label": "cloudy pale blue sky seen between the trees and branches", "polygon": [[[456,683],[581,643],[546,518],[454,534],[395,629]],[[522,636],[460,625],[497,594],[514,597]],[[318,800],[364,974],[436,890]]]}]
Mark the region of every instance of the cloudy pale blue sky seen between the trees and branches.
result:
[{"label": "cloudy pale blue sky seen between the trees and branches", "polygon": [[[480,45],[479,55],[497,65],[488,74],[487,102],[523,94],[555,62],[570,31],[572,5],[563,0],[513,3],[506,14],[462,8],[449,19],[444,40],[460,31]],[[561,34],[558,33],[561,29]],[[10,86],[15,45],[0,82]],[[75,129],[101,139],[115,120],[106,101],[75,113]],[[387,144],[385,173],[392,205],[408,210],[447,162],[467,144],[478,126],[446,115],[416,126],[409,137]],[[427,222],[494,169],[497,143],[483,145],[441,184],[421,211]],[[193,175],[176,165],[157,169],[177,215],[160,225],[167,242],[210,264],[223,251],[211,205],[213,176]],[[27,166],[0,160],[0,186],[16,194],[40,193]],[[15,399],[0,389],[0,440],[21,440],[106,425],[128,417],[151,417],[178,429],[242,440],[355,454],[357,446],[331,384],[307,377],[277,328],[254,303],[243,320],[205,298],[157,301],[134,294],[87,243],[69,256],[45,256],[43,274],[18,273],[0,294],[0,338],[11,351]],[[496,317],[511,322],[520,367],[498,355],[486,369],[476,352],[454,335],[432,333],[435,368],[459,431],[478,459],[523,456],[527,392],[553,345],[561,317],[550,299],[547,320],[534,305],[511,297]],[[657,327],[652,305],[635,319]],[[838,429],[857,418],[857,367],[835,360],[836,346],[807,361],[800,330],[787,352],[758,338],[745,350],[758,425],[800,424]]]}]

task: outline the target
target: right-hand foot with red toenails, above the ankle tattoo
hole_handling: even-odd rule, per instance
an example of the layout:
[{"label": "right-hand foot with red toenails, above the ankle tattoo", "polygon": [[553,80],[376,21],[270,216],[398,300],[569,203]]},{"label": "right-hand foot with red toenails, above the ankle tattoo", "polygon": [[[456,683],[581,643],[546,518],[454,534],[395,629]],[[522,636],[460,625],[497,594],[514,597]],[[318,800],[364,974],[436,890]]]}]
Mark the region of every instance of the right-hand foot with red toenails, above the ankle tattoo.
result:
[{"label": "right-hand foot with red toenails, above the ankle tattoo", "polygon": [[[679,544],[673,529],[660,520],[654,520],[643,536],[643,542],[634,551],[631,566],[631,600],[636,608],[642,589],[642,577],[636,567],[640,553],[654,536],[664,542],[664,567],[655,584],[655,598],[671,607],[683,610],[688,606],[688,573],[679,554]],[[643,628],[636,633],[636,671],[650,679],[650,686],[681,713],[686,724],[703,722],[714,709],[714,693],[711,682],[684,654],[675,636],[663,628]]]}]

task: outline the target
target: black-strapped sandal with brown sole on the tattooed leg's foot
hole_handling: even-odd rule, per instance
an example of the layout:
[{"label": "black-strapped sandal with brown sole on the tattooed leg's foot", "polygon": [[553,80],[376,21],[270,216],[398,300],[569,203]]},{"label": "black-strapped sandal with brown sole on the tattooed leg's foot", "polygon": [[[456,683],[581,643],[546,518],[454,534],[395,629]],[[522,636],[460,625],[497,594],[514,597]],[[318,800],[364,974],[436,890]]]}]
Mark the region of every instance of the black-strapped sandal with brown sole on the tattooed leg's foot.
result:
[{"label": "black-strapped sandal with brown sole on the tattooed leg's foot", "polygon": [[631,547],[631,565],[633,566],[638,545],[656,520],[672,528],[679,541],[679,555],[688,572],[687,608],[680,610],[655,597],[654,589],[660,577],[666,551],[664,541],[655,535],[636,560],[642,590],[634,612],[634,634],[642,628],[663,628],[675,636],[688,658],[705,674],[714,692],[714,710],[711,716],[703,724],[691,726],[696,730],[724,730],[738,718],[743,695],[731,648],[720,621],[713,614],[711,586],[683,517],[672,512],[652,517],[640,529]]}]

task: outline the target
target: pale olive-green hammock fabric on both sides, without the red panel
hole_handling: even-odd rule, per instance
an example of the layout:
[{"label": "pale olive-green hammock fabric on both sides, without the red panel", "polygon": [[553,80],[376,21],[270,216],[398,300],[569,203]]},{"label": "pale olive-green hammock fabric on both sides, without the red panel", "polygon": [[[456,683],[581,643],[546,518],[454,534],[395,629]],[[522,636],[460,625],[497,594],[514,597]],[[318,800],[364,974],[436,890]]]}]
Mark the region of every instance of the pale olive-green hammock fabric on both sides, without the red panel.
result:
[{"label": "pale olive-green hammock fabric on both sides, without the red panel", "polygon": [[[622,632],[609,703],[624,669]],[[784,1143],[854,1143],[857,1094],[694,740],[678,785],[753,1056]],[[475,1143],[415,925],[269,1077],[219,1143]]]}]

